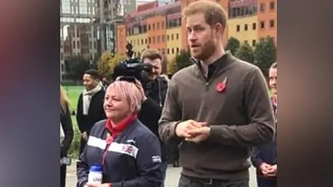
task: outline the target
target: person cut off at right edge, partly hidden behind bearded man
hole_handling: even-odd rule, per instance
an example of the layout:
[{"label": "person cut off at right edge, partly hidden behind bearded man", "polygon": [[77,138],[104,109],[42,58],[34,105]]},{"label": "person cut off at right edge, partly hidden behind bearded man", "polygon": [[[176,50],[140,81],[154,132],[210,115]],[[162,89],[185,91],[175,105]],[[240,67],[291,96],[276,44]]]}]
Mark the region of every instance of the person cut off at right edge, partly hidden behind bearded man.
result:
[{"label": "person cut off at right edge, partly hidden behind bearded man", "polygon": [[[278,125],[278,64],[271,65],[268,71],[268,85],[273,91],[271,102],[275,114],[275,124]],[[253,148],[251,161],[257,168],[258,187],[276,187],[278,174],[278,146],[277,135],[275,139],[266,145]]]}]

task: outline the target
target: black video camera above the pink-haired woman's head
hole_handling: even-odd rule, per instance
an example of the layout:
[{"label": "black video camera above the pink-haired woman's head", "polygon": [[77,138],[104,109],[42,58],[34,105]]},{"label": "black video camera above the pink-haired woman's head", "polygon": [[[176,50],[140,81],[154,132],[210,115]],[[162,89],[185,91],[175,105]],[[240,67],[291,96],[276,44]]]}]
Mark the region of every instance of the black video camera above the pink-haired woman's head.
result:
[{"label": "black video camera above the pink-haired woman's head", "polygon": [[133,46],[130,43],[126,45],[126,48],[128,50],[126,53],[128,59],[119,62],[119,64],[114,67],[114,79],[122,76],[121,80],[134,82],[135,79],[137,79],[142,83],[145,82],[153,66],[151,64],[144,64],[139,58],[132,58]]}]

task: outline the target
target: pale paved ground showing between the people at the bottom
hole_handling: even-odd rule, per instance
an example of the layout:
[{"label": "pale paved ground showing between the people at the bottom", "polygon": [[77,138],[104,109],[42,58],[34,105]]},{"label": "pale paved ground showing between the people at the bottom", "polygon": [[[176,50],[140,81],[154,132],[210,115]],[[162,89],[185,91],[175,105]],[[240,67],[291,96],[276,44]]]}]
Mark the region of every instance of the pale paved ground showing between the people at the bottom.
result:
[{"label": "pale paved ground showing between the people at the bottom", "polygon": [[[180,177],[181,168],[173,168],[169,166],[167,170],[167,179],[165,181],[165,187],[177,187],[178,179]],[[67,168],[66,187],[76,187],[76,173],[75,166]],[[250,187],[257,187],[255,179],[255,168],[250,168]]]}]

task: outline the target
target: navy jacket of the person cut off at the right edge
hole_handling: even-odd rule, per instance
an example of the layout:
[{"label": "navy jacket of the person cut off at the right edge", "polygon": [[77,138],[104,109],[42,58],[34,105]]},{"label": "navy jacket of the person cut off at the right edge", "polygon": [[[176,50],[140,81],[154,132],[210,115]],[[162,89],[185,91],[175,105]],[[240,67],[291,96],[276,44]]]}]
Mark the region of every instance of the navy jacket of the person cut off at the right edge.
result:
[{"label": "navy jacket of the person cut off at the right edge", "polygon": [[[273,105],[274,114],[276,114],[276,106]],[[276,120],[276,119],[275,119]],[[277,124],[277,123],[275,123]],[[275,133],[275,138],[271,143],[260,145],[253,148],[251,162],[255,168],[259,168],[261,163],[268,163],[270,165],[278,164],[277,161],[277,135]],[[259,174],[261,171],[257,170]]]}]

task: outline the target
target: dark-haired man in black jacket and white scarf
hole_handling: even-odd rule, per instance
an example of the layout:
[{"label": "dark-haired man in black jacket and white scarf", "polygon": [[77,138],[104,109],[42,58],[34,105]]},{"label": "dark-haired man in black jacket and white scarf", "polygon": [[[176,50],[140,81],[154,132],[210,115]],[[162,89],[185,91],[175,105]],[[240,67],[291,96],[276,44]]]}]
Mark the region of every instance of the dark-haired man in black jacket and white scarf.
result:
[{"label": "dark-haired man in black jacket and white scarf", "polygon": [[106,118],[103,109],[103,100],[105,96],[105,90],[99,84],[100,81],[99,71],[89,69],[85,71],[83,75],[83,85],[85,90],[80,94],[78,98],[78,106],[76,108],[76,122],[78,128],[82,133],[80,140],[80,154],[83,152],[89,131],[92,126]]}]

